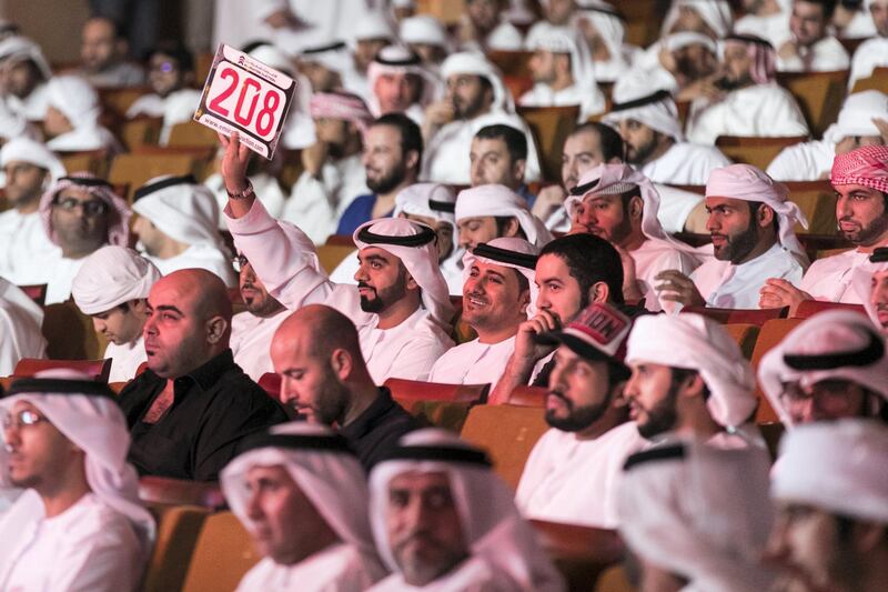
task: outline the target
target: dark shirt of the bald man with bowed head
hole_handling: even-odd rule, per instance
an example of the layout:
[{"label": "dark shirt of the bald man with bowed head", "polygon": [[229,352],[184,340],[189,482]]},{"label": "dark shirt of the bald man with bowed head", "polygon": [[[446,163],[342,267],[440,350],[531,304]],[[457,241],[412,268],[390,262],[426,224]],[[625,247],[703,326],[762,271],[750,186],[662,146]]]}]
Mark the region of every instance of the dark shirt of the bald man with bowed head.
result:
[{"label": "dark shirt of the bald man with bowed head", "polygon": [[385,387],[380,387],[380,397],[349,425],[340,429],[357,460],[370,471],[380,459],[397,446],[397,441],[407,432],[421,428],[420,423],[403,407],[392,399]]}]

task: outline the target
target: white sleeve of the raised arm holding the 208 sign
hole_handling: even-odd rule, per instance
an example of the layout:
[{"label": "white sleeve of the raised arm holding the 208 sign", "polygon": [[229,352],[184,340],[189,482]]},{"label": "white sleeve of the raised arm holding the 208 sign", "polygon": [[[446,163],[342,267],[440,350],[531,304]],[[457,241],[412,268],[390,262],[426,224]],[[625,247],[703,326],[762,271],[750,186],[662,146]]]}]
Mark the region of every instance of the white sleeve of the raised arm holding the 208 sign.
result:
[{"label": "white sleeve of the raised arm holding the 208 sign", "polygon": [[330,295],[334,284],[317,264],[317,252],[304,232],[287,234],[259,200],[243,218],[231,218],[226,205],[224,218],[234,245],[284,307],[296,310]]}]

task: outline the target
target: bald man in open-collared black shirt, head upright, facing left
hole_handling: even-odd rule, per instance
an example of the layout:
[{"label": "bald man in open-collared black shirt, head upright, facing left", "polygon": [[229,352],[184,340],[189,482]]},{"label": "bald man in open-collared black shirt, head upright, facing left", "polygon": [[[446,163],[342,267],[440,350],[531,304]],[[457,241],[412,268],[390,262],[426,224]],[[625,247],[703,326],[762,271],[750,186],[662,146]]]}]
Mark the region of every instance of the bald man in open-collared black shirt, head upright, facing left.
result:
[{"label": "bald man in open-collared black shirt, head upright, facing left", "polygon": [[175,271],[148,297],[148,370],[120,393],[141,474],[212,481],[248,434],[286,421],[283,408],[234,363],[225,284]]}]

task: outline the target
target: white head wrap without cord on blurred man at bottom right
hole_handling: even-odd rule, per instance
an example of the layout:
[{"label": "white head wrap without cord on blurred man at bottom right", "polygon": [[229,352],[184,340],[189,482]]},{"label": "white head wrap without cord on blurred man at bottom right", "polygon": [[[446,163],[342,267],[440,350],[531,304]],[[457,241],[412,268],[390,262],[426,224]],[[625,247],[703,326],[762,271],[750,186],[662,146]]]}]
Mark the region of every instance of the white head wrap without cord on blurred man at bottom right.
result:
[{"label": "white head wrap without cord on blurred man at bottom right", "polygon": [[780,442],[771,498],[888,524],[888,427],[845,419],[799,425]]}]

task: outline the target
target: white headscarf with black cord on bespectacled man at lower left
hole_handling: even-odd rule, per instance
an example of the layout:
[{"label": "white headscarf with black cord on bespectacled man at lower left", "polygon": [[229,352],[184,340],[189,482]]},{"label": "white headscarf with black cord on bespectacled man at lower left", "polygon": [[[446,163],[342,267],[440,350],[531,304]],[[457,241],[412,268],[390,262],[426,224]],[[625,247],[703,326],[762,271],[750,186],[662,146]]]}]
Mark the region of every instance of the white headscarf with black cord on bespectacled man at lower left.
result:
[{"label": "white headscarf with black cord on bespectacled man at lower left", "polygon": [[[95,394],[98,391],[104,394]],[[0,400],[0,409],[9,412],[18,401],[34,405],[85,453],[90,490],[102,503],[130,520],[147,560],[154,540],[154,520],[139,502],[139,476],[127,462],[130,431],[113,392],[73,370],[46,370],[34,379],[16,381],[10,393]],[[6,472],[6,466],[2,470]],[[26,492],[4,516],[6,532],[0,532],[0,540],[14,541],[23,526],[43,513],[37,492]]]}]

